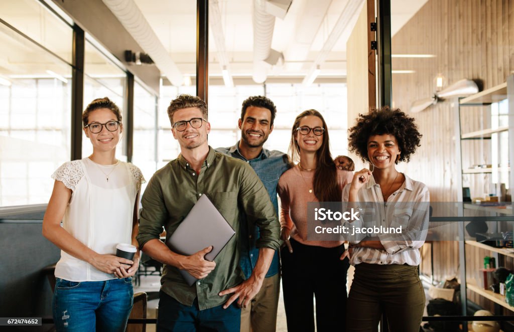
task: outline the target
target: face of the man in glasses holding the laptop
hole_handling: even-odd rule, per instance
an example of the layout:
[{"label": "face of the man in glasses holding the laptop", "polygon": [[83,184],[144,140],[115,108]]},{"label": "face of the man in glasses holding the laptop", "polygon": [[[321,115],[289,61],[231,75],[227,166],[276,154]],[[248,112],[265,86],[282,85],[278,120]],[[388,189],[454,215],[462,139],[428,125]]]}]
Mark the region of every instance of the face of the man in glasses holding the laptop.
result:
[{"label": "face of the man in glasses holding the laptop", "polygon": [[[173,114],[173,122],[189,121],[192,118],[203,118],[201,111],[197,107],[182,108]],[[203,121],[201,127],[193,128],[190,123],[187,124],[186,130],[179,132],[176,128],[172,128],[173,137],[178,140],[181,149],[195,149],[196,147],[207,145],[207,134],[211,131],[211,124]]]}]

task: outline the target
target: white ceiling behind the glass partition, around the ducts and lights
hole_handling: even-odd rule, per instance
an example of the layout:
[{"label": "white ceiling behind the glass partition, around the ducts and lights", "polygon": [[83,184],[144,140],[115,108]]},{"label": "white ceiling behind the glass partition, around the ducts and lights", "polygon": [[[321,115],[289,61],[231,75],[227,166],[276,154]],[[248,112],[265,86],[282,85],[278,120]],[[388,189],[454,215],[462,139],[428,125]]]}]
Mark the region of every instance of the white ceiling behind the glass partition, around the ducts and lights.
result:
[{"label": "white ceiling behind the glass partition, around the ducts and lights", "polygon": [[[219,0],[219,12],[224,31],[226,55],[230,71],[235,76],[251,76],[253,68],[253,26],[252,0]],[[284,65],[274,68],[268,76],[305,76],[316,60],[328,35],[336,25],[341,12],[348,2],[364,0],[325,0],[326,9],[320,9],[320,0],[293,0],[285,19],[276,19],[271,48],[284,53]],[[396,33],[427,0],[392,0],[391,25]],[[196,71],[196,2],[189,0],[135,0],[146,20],[155,31],[158,39],[170,53],[171,58],[185,75]],[[313,7],[317,6],[317,7]],[[313,18],[314,9],[324,15],[319,20]],[[326,60],[320,65],[319,76],[346,76],[346,41],[355,25],[358,13],[346,22]],[[305,35],[308,44],[299,40]],[[314,33],[313,33],[314,32]],[[302,48],[306,49],[302,52]],[[216,45],[209,29],[209,73],[221,76]],[[393,50],[394,52],[394,50]]]}]

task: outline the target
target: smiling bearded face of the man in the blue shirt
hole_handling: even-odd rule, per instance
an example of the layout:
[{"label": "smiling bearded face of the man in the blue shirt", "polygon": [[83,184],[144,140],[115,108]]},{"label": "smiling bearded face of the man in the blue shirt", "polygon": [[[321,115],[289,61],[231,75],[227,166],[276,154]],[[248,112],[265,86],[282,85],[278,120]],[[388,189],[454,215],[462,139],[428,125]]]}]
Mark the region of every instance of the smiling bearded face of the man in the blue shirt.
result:
[{"label": "smiling bearded face of the man in the blue shirt", "polygon": [[260,147],[266,142],[273,131],[271,112],[264,107],[249,106],[244,119],[239,119],[241,140],[248,147]]}]

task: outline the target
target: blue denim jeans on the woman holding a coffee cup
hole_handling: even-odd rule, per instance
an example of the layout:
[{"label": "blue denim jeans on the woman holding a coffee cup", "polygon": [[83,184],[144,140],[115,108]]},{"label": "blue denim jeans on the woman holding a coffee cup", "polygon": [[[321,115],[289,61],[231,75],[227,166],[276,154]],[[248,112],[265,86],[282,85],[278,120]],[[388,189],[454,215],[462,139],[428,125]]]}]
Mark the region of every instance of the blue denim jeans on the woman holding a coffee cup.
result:
[{"label": "blue denim jeans on the woman holding a coffee cup", "polygon": [[132,278],[75,282],[57,278],[53,321],[58,331],[124,331],[134,303]]}]

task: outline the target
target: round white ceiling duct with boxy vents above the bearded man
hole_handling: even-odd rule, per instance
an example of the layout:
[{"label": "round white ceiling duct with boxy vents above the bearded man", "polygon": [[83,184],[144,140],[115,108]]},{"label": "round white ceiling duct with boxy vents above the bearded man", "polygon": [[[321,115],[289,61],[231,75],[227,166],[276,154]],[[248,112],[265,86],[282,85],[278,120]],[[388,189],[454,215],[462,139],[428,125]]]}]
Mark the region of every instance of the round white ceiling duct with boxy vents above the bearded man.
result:
[{"label": "round white ceiling duct with boxy vents above the bearded man", "polygon": [[[283,59],[281,53],[271,49],[275,16],[285,17],[292,0],[253,0],[253,75],[255,83],[263,83],[272,64]],[[279,55],[277,55],[279,53]],[[283,62],[283,61],[282,61]]]}]

